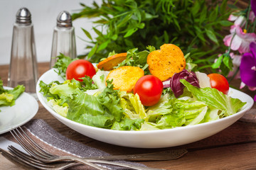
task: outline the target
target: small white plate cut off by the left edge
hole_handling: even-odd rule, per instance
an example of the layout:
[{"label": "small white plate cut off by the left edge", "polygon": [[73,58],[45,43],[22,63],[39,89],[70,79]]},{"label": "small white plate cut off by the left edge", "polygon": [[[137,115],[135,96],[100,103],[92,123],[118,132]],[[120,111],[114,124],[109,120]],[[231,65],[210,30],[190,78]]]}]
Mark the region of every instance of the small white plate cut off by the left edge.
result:
[{"label": "small white plate cut off by the left edge", "polygon": [[[4,87],[4,89],[11,88]],[[16,99],[14,106],[3,106],[0,110],[0,134],[2,134],[31,120],[38,111],[38,101],[24,92]]]}]

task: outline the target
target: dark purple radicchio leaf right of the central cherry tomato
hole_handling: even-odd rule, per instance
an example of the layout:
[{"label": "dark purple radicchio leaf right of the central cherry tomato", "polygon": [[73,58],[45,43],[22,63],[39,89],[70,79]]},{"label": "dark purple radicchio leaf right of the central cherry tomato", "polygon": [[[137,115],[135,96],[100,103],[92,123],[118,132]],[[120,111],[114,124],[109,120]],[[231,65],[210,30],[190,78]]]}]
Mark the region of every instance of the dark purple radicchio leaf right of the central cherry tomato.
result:
[{"label": "dark purple radicchio leaf right of the central cherry tomato", "polygon": [[186,81],[188,81],[188,83],[200,88],[198,79],[196,77],[196,73],[188,72],[188,70],[183,69],[181,72],[175,73],[170,80],[170,88],[171,88],[171,91],[174,92],[174,96],[176,98],[178,98],[178,96],[181,96],[181,94],[183,94],[183,89],[185,87],[181,83],[180,79],[185,79]]}]

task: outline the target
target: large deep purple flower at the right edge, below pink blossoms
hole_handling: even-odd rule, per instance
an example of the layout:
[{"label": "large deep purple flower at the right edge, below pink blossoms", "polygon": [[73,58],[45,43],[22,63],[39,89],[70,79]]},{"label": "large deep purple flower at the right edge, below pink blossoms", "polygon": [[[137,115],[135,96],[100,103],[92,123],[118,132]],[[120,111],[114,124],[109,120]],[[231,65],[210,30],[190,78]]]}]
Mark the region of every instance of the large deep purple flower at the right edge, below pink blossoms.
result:
[{"label": "large deep purple flower at the right edge, below pink blossoms", "polygon": [[250,52],[242,55],[240,77],[247,86],[256,86],[256,43],[250,43]]}]

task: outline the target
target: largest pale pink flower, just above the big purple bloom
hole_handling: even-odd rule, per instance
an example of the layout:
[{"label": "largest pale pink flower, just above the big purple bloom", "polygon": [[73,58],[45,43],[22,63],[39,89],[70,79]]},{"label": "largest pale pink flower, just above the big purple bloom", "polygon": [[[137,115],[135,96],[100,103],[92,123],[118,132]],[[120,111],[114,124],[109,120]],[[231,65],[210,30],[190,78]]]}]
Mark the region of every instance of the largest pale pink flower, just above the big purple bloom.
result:
[{"label": "largest pale pink flower, just above the big purple bloom", "polygon": [[256,41],[255,33],[243,33],[242,28],[235,25],[231,26],[230,33],[230,35],[226,35],[223,39],[226,46],[230,46],[231,40],[234,36],[232,44],[230,46],[231,50],[238,50],[240,54],[250,52],[250,42]]}]

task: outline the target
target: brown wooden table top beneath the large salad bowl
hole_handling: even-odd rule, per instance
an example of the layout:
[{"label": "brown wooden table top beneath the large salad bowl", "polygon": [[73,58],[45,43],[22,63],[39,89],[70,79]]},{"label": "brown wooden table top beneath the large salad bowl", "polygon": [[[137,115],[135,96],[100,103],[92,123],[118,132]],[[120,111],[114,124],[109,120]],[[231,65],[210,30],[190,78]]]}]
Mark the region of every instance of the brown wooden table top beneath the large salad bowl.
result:
[{"label": "brown wooden table top beneath the large salad bowl", "polygon": [[[39,63],[40,75],[48,70],[48,63]],[[8,65],[0,65],[0,77],[7,84]],[[231,82],[232,86],[239,87],[240,81]],[[255,91],[242,89],[253,96]],[[253,106],[255,111],[256,104]],[[180,159],[161,162],[141,162],[146,166],[162,169],[256,169],[256,123],[247,123],[238,120],[229,128],[218,132],[198,142],[172,148],[162,149],[137,149],[110,145],[71,130],[55,119],[39,102],[39,110],[35,119],[43,119],[56,131],[72,140],[82,142],[85,145],[102,149],[110,154],[138,154],[146,152],[158,152],[165,149],[186,148],[188,153]],[[10,162],[11,164],[11,162]],[[0,165],[1,169],[1,165]]]}]

